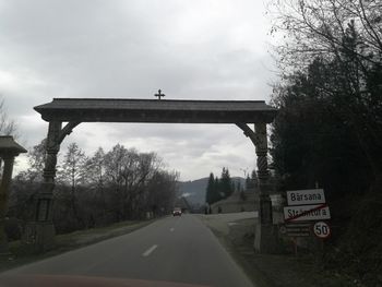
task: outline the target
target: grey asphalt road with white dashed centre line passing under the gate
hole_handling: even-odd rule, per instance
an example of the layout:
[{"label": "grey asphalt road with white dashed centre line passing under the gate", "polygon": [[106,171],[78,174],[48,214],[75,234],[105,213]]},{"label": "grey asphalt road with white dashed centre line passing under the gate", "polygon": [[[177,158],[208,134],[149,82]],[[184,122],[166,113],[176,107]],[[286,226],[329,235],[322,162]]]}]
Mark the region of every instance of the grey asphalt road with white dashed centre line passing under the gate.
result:
[{"label": "grey asphalt road with white dashed centre line passing under the gate", "polygon": [[[9,274],[59,274],[166,280],[215,287],[253,286],[203,223],[192,215],[167,217]],[[3,274],[4,275],[4,274]]]}]

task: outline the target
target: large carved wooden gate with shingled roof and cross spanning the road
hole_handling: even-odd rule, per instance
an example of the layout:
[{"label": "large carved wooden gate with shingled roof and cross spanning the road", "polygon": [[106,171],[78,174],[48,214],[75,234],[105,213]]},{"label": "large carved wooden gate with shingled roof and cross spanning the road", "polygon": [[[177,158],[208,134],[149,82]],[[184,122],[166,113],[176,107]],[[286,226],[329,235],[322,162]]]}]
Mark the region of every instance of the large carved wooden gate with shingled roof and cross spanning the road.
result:
[{"label": "large carved wooden gate with shingled roof and cross spanning the road", "polygon": [[[236,124],[255,147],[259,178],[259,217],[254,249],[268,252],[274,226],[270,199],[266,124],[277,109],[263,100],[174,100],[133,98],[55,98],[35,107],[49,122],[44,181],[37,195],[35,219],[26,227],[25,242],[38,250],[53,244],[52,191],[55,189],[57,154],[63,139],[81,122],[155,122]],[[67,122],[64,127],[62,124]],[[249,124],[253,124],[254,129]]]}]

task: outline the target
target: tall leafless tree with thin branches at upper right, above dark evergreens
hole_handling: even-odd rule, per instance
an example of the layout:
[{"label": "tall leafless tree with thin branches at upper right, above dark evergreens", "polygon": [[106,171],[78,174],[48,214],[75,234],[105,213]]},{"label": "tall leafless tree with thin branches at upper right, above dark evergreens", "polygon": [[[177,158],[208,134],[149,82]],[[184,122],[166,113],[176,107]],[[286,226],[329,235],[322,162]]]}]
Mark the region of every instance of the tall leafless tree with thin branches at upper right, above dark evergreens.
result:
[{"label": "tall leafless tree with thin branches at upper right, above dark evergreens", "polygon": [[351,128],[374,176],[381,174],[382,2],[274,0],[270,11],[272,33],[284,36],[275,50],[286,86],[298,73],[319,75],[320,99]]}]

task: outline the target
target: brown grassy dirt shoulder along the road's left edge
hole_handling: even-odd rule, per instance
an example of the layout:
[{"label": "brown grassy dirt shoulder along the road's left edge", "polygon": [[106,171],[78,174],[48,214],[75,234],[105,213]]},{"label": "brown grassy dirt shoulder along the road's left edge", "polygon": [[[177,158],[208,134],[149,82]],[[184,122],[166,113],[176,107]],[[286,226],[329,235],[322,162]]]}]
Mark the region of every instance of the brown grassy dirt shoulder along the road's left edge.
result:
[{"label": "brown grassy dirt shoulder along the road's left edge", "polygon": [[79,230],[71,234],[56,236],[56,248],[44,254],[26,254],[20,241],[9,243],[9,253],[0,256],[0,272],[33,263],[46,258],[55,256],[70,250],[94,244],[106,239],[130,234],[152,224],[152,220],[129,220],[107,227]]}]

